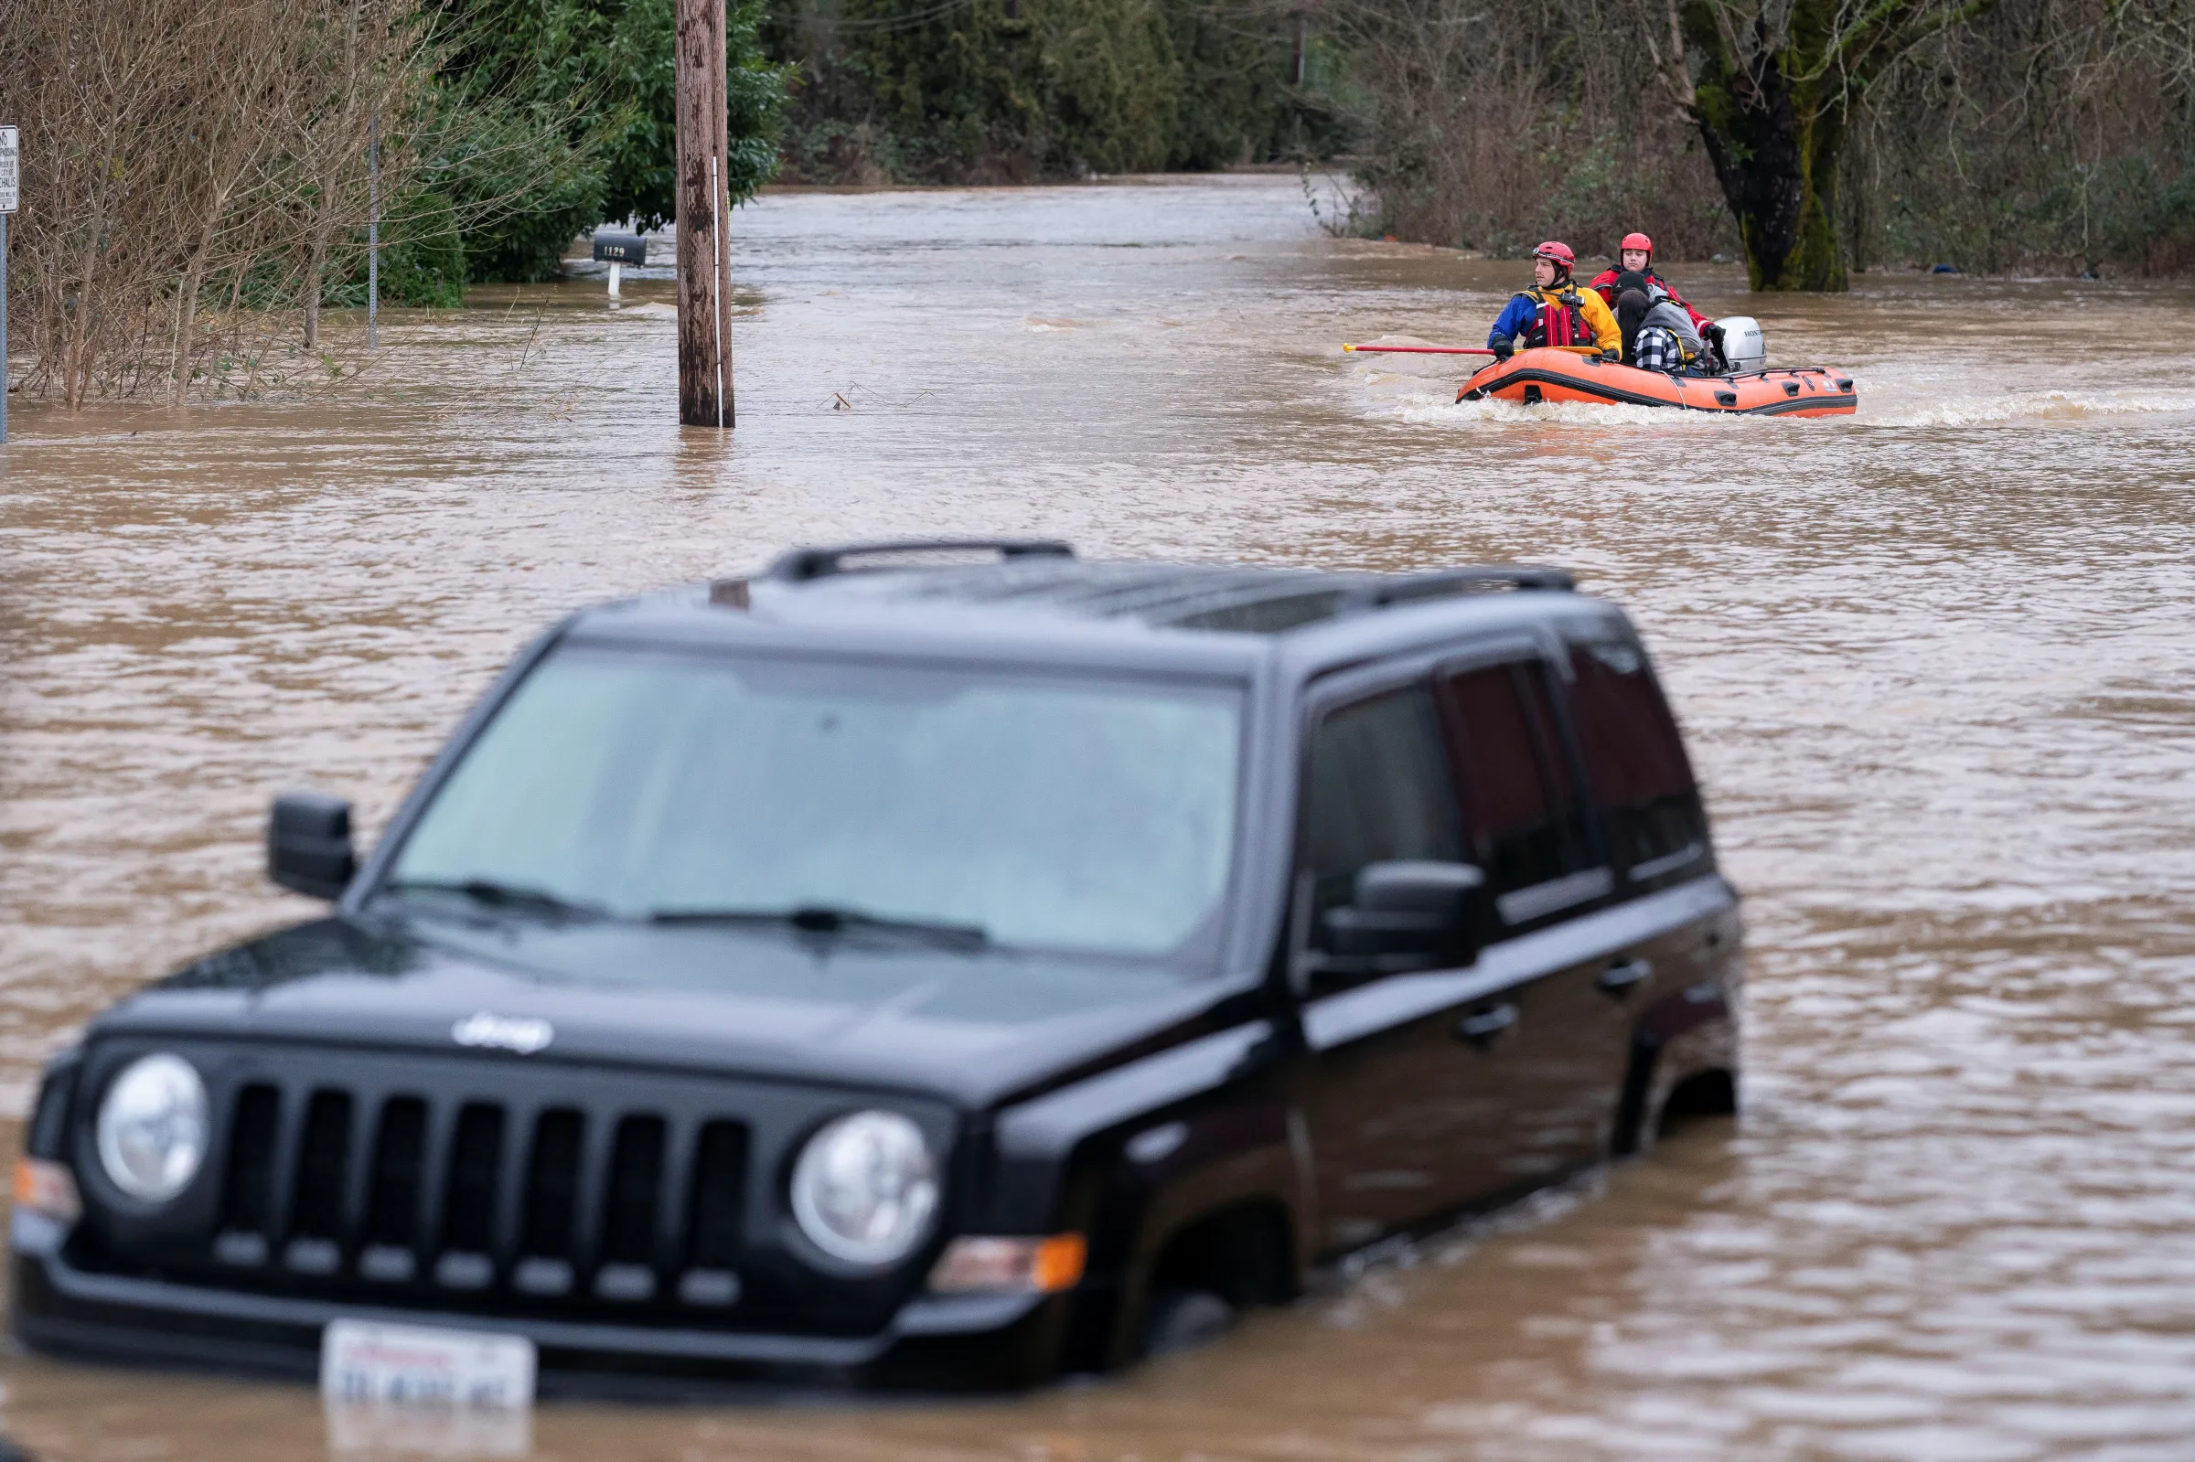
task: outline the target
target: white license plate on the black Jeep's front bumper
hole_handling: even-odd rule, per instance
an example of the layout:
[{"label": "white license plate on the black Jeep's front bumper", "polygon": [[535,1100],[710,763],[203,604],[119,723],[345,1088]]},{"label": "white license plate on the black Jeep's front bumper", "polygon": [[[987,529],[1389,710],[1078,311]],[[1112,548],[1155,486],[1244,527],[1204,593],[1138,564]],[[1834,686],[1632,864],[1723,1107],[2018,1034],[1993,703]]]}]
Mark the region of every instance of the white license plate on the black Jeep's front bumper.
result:
[{"label": "white license plate on the black Jeep's front bumper", "polygon": [[320,1332],[320,1394],[345,1407],[522,1412],[533,1405],[522,1335],[336,1319]]}]

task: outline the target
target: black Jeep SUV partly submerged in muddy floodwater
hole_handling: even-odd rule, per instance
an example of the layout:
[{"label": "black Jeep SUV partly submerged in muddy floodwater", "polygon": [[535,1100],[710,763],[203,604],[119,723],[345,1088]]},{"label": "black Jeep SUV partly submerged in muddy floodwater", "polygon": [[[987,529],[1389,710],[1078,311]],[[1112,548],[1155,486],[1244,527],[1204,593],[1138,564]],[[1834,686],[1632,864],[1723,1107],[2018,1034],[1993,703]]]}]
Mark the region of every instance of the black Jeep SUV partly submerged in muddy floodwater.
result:
[{"label": "black Jeep SUV partly submerged in muddy floodwater", "polygon": [[90,1023],[18,1335],[312,1372],[1029,1383],[1736,1093],[1738,915],[1637,637],[1547,569],[795,551],[573,615],[334,900]]}]

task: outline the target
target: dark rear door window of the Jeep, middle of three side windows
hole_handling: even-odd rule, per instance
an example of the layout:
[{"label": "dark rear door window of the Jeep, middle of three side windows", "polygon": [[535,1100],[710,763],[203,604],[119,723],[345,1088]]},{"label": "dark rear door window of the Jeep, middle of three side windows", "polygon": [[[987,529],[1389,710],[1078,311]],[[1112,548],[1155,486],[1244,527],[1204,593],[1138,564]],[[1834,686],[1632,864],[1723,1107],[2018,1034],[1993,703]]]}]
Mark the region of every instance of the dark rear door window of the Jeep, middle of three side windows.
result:
[{"label": "dark rear door window of the Jeep, middle of three side windows", "polygon": [[1499,898],[1591,863],[1539,663],[1444,678],[1449,751],[1462,781],[1473,861]]}]

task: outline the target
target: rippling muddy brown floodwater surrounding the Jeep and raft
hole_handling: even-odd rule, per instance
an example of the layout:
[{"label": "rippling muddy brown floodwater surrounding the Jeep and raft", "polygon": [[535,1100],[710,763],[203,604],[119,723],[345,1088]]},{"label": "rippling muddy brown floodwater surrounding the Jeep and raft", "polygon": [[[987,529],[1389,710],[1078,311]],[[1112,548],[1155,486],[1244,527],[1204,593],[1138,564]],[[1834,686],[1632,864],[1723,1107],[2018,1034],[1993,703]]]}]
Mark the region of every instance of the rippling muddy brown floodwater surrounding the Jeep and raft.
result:
[{"label": "rippling muddy brown floodwater surrounding the Jeep and raft", "polygon": [[[986,1403],[544,1405],[531,1455],[2195,1455],[2195,288],[1866,274],[1758,314],[1835,421],[1453,406],[1517,263],[1293,178],[773,195],[740,430],[669,285],[391,314],[325,402],[18,404],[0,450],[0,1102],[99,1005],[312,911],[266,801],[378,825],[553,615],[792,542],[1574,566],[1657,650],[1747,896],[1745,1115],[1225,1341]],[[1396,364],[1396,362],[1403,364]],[[0,1357],[53,1460],[336,1447],[305,1387]]]}]

